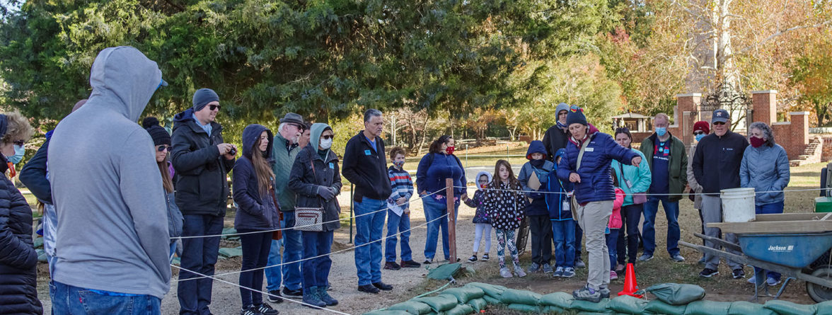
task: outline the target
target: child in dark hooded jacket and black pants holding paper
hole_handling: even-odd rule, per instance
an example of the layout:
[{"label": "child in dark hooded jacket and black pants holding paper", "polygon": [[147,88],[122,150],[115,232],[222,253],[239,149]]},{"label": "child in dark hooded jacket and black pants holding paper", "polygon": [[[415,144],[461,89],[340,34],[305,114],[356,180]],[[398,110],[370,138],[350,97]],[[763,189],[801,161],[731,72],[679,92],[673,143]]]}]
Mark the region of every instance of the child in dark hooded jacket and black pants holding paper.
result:
[{"label": "child in dark hooded jacket and black pants holding paper", "polygon": [[528,224],[532,230],[532,266],[529,273],[552,273],[552,223],[546,208],[546,199],[537,193],[545,187],[548,174],[554,163],[546,160],[546,147],[542,141],[532,141],[526,153],[528,162],[523,164],[518,174],[518,181],[531,204],[526,207]]}]

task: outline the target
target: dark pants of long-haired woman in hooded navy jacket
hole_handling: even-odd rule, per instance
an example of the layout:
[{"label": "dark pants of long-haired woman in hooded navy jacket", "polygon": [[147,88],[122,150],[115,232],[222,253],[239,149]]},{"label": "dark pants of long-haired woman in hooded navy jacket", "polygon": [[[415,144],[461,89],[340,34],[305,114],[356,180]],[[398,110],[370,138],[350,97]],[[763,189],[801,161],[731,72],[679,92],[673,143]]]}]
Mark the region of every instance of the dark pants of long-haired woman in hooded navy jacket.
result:
[{"label": "dark pants of long-haired woman in hooded navy jacket", "polygon": [[[254,230],[238,230],[238,233],[250,233]],[[263,288],[263,269],[269,259],[271,248],[271,232],[253,233],[240,235],[240,244],[243,248],[243,263],[240,267],[240,298],[243,308],[250,305],[263,303],[263,294],[252,290],[260,291]],[[252,270],[256,269],[256,270]]]}]

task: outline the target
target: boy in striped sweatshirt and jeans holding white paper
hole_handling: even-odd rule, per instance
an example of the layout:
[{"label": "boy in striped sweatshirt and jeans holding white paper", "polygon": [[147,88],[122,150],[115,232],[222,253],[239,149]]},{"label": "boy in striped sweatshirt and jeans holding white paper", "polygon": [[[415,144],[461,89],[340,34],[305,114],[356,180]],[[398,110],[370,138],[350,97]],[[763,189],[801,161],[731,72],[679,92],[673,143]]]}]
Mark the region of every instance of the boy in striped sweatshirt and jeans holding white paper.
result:
[{"label": "boy in striped sweatshirt and jeans holding white paper", "polygon": [[[410,197],[414,194],[414,182],[410,173],[404,170],[404,148],[396,147],[390,150],[393,165],[387,169],[393,193],[387,199],[387,243],[385,245],[384,269],[399,270],[401,268],[418,268],[410,251]],[[402,241],[402,264],[396,263],[396,234]]]}]

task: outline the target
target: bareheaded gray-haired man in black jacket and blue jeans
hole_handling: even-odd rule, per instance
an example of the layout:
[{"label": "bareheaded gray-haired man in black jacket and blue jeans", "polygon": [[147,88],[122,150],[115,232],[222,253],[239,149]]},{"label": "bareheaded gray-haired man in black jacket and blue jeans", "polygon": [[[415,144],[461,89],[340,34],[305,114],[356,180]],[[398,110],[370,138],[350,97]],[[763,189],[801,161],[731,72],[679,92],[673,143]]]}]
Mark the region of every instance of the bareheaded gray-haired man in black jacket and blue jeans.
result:
[{"label": "bareheaded gray-haired man in black jacket and blue jeans", "polygon": [[[379,293],[393,286],[381,282],[381,232],[387,216],[387,198],[392,193],[387,177],[384,140],[379,137],[384,117],[378,109],[364,112],[364,130],[347,142],[344,148],[342,173],[355,185],[354,203],[355,269],[358,270],[359,291]],[[366,213],[371,213],[364,215]],[[366,243],[372,243],[363,246]]]}]

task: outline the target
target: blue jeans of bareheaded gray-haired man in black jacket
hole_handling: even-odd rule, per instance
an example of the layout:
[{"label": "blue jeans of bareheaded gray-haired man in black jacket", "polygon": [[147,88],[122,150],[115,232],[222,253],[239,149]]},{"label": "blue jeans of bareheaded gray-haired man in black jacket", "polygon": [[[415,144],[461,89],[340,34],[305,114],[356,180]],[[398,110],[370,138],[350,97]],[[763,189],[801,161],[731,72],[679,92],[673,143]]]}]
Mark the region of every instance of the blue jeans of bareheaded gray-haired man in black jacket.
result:
[{"label": "blue jeans of bareheaded gray-haired man in black jacket", "polygon": [[[356,202],[355,218],[355,269],[359,276],[359,286],[381,282],[381,232],[384,230],[384,218],[387,202],[364,197]],[[369,245],[364,245],[370,243]]]}]

